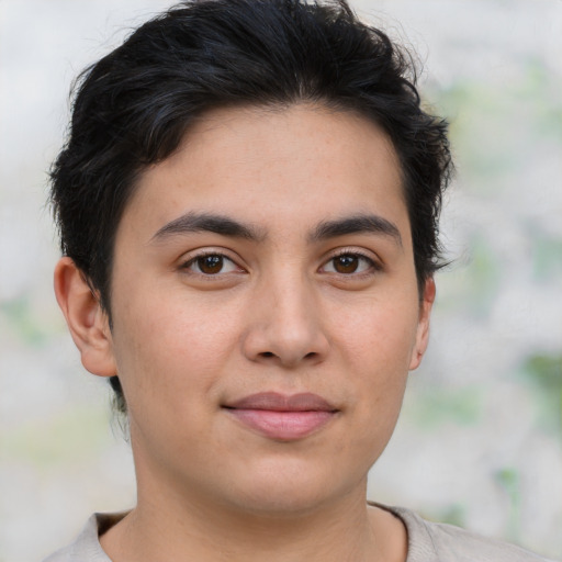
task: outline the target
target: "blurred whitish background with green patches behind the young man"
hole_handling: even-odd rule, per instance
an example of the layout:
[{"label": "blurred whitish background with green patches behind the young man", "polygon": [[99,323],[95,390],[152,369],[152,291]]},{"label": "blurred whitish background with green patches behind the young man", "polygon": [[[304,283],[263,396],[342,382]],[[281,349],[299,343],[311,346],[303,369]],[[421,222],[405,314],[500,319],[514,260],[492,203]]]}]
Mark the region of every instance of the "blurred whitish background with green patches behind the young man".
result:
[{"label": "blurred whitish background with green patches behind the young man", "polygon": [[[369,496],[562,557],[562,1],[355,0],[451,122],[429,353]],[[52,291],[46,170],[72,78],[170,5],[0,0],[0,562],[134,504],[128,445]]]}]

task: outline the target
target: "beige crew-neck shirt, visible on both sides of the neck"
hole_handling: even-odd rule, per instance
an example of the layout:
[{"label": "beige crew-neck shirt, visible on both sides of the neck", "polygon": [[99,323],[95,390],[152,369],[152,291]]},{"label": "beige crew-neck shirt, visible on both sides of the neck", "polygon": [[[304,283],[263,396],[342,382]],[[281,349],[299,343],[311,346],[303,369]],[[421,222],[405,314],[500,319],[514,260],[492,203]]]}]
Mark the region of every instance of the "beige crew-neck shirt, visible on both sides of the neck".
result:
[{"label": "beige crew-neck shirt, visible on both sides of the neck", "polygon": [[[426,521],[403,507],[384,509],[402,519],[406,526],[406,562],[549,562],[518,547],[486,539],[452,525]],[[124,515],[92,515],[72,544],[55,552],[44,562],[111,562],[100,546],[99,536]]]}]

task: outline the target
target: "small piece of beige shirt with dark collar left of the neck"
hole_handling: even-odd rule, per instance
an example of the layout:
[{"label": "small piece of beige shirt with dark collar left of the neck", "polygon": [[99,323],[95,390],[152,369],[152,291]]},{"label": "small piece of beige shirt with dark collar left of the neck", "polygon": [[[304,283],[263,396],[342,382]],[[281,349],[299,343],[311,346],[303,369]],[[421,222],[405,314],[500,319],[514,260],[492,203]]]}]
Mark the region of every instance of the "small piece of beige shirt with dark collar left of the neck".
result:
[{"label": "small piece of beige shirt with dark collar left of the neck", "polygon": [[124,516],[124,513],[92,515],[71,544],[57,550],[43,562],[111,562],[101,548],[99,536]]}]

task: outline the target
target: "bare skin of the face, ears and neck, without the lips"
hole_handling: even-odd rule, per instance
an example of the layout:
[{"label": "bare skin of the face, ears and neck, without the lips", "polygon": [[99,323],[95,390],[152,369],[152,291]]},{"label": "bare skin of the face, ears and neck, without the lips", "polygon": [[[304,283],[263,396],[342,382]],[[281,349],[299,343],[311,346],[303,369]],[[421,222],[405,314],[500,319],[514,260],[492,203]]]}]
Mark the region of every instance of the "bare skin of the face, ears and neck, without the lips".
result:
[{"label": "bare skin of the face, ears and neck, without the lips", "polygon": [[[195,214],[249,232],[188,228]],[[357,232],[319,235],[342,220]],[[378,126],[310,104],[209,113],[127,204],[112,329],[69,258],[55,289],[83,366],[119,373],[127,401],[138,504],[101,537],[114,562],[405,560],[403,524],[366,505],[367,473],[426,350],[435,285],[418,292]],[[225,407],[259,392],[335,412],[276,439]]]}]

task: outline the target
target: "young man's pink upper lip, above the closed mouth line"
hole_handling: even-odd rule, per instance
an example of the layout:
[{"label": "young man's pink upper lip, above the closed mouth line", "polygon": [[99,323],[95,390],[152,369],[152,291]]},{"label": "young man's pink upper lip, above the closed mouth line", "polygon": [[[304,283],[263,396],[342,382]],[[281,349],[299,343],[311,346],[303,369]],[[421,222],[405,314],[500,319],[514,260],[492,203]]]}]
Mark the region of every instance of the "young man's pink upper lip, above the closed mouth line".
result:
[{"label": "young man's pink upper lip, above the closed mouth line", "polygon": [[268,409],[272,412],[337,411],[328,401],[311,392],[291,395],[278,392],[259,392],[225,404],[225,407],[233,409]]}]

